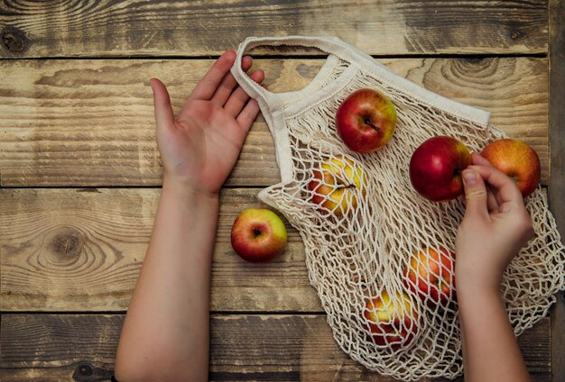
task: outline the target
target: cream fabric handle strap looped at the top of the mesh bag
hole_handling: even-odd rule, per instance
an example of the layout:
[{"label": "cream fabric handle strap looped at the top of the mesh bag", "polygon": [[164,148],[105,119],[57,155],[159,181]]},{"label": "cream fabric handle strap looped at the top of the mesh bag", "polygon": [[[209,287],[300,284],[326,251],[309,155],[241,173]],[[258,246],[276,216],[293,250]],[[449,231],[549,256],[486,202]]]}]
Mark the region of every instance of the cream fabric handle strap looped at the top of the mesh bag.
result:
[{"label": "cream fabric handle strap looped at the top of the mesh bag", "polygon": [[335,37],[307,37],[307,36],[282,36],[282,37],[248,37],[239,44],[237,48],[236,62],[231,68],[231,72],[234,77],[236,77],[237,82],[242,86],[245,92],[259,101],[259,104],[266,106],[266,99],[273,98],[274,93],[269,92],[263,86],[257,84],[249,76],[245,74],[241,68],[241,61],[244,57],[246,50],[251,50],[259,45],[270,45],[270,46],[303,46],[318,48],[319,50],[325,51],[327,53],[333,53],[340,59],[351,60],[349,54],[347,53],[350,46],[347,43],[335,38]]}]

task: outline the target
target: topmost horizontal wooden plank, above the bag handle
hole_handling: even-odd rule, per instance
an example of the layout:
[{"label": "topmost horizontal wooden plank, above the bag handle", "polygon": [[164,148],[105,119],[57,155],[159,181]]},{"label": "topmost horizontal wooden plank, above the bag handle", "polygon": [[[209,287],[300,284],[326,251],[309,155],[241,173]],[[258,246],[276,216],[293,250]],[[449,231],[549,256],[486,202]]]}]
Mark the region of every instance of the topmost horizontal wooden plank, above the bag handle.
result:
[{"label": "topmost horizontal wooden plank, above the bag handle", "polygon": [[530,54],[547,51],[547,23],[547,0],[5,1],[0,58],[208,56],[290,34],[333,35],[375,55]]}]

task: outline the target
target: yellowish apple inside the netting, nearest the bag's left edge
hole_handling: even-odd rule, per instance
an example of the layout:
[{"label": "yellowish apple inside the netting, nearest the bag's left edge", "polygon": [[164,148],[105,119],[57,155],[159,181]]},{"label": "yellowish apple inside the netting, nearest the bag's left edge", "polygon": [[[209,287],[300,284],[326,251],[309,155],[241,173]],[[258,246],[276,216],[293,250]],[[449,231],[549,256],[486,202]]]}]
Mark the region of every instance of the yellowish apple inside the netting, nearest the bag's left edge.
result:
[{"label": "yellowish apple inside the netting, nearest the bag's left edge", "polygon": [[313,193],[312,202],[333,212],[336,216],[347,214],[357,207],[357,190],[365,195],[363,171],[351,159],[342,155],[321,163],[312,171],[308,184]]}]

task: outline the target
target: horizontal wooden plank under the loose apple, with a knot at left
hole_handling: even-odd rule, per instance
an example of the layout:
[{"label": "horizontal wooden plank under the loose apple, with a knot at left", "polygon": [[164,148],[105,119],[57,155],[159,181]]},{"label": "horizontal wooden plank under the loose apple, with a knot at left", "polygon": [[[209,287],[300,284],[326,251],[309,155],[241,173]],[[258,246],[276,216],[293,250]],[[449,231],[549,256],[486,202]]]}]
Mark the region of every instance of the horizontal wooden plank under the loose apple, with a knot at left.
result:
[{"label": "horizontal wooden plank under the loose apple, with a knot at left", "polygon": [[[232,250],[237,214],[266,207],[258,191],[228,189],[221,196],[211,309],[320,312],[292,227],[287,249],[269,264],[247,263]],[[0,309],[125,310],[160,194],[155,188],[0,190]]]}]

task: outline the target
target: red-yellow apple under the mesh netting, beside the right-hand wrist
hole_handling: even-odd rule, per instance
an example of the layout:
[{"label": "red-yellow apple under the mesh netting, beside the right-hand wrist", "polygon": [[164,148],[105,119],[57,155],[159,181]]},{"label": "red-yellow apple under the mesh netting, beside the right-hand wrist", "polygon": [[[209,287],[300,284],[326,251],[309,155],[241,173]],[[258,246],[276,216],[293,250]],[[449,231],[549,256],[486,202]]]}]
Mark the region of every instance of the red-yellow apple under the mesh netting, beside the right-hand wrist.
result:
[{"label": "red-yellow apple under the mesh netting, beside the right-hand wrist", "polygon": [[447,305],[455,298],[455,253],[425,248],[412,254],[404,269],[406,286],[429,305]]}]

